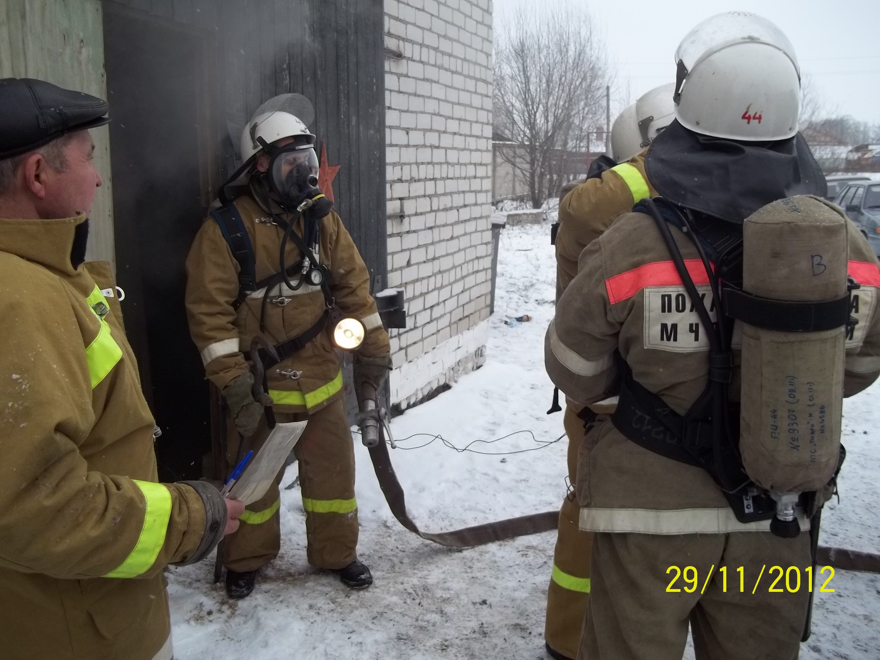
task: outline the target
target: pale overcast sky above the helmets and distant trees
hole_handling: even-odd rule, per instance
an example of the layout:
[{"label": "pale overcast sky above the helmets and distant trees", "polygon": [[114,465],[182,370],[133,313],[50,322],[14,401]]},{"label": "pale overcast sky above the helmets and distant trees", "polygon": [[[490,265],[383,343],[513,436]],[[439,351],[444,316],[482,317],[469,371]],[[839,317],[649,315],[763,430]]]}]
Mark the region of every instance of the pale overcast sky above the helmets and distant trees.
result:
[{"label": "pale overcast sky above the helmets and distant trees", "polygon": [[703,18],[741,10],[774,21],[834,114],[880,124],[880,0],[495,0],[495,26],[519,3],[586,8],[617,70],[613,114],[675,82],[678,42]]}]

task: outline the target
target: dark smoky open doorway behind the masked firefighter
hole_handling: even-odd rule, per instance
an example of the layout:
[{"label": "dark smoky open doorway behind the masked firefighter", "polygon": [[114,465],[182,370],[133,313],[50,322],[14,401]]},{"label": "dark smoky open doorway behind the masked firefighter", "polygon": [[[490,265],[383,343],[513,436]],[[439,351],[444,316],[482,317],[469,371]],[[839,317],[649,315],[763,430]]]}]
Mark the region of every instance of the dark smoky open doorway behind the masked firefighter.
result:
[{"label": "dark smoky open doorway behind the masked firefighter", "polygon": [[197,479],[210,451],[208,384],[184,307],[206,214],[201,33],[104,4],[117,281],[143,391],[162,436],[160,480]]}]

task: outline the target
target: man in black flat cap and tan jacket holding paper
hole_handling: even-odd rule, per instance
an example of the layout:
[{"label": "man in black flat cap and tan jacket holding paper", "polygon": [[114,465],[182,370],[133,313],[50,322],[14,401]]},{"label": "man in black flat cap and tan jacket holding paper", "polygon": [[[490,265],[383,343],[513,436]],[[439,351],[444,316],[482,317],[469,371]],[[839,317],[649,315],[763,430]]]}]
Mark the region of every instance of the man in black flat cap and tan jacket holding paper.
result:
[{"label": "man in black flat cap and tan jacket holding paper", "polygon": [[170,660],[162,569],[244,507],[157,483],[109,264],[85,262],[107,104],[0,80],[0,656]]}]

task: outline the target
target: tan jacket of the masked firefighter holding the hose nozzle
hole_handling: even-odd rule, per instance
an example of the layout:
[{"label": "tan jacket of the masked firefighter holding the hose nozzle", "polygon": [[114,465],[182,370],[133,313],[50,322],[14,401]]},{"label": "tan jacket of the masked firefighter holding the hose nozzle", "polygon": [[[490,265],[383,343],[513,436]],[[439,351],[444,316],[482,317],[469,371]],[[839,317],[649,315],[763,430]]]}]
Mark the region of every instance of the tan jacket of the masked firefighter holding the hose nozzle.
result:
[{"label": "tan jacket of the masked firefighter holding the hose nozzle", "polygon": [[[234,203],[251,238],[257,280],[279,272],[282,228],[268,223],[269,214],[252,196],[241,196]],[[302,219],[297,220],[294,229],[303,235]],[[293,241],[288,241],[286,251],[288,267],[301,259]],[[370,357],[388,354],[388,334],[382,327],[376,302],[370,296],[369,272],[334,211],[321,220],[319,260],[333,274],[336,304],[342,312],[361,319],[366,327],[367,336],[360,352]],[[238,261],[232,256],[223,233],[209,217],[196,235],[187,258],[187,314],[190,333],[202,353],[207,376],[221,390],[247,370],[243,351],[248,351],[251,338],[260,334],[260,307],[265,289],[254,291],[238,310],[234,309],[238,269]],[[291,283],[296,284],[298,277],[298,274],[291,276]],[[325,300],[320,287],[304,284],[291,291],[282,282],[269,294],[263,335],[272,344],[303,334],[324,312]],[[279,299],[284,304],[275,302]],[[341,396],[342,374],[329,330],[328,326],[298,353],[268,370],[269,395],[280,412],[311,412]]]}]

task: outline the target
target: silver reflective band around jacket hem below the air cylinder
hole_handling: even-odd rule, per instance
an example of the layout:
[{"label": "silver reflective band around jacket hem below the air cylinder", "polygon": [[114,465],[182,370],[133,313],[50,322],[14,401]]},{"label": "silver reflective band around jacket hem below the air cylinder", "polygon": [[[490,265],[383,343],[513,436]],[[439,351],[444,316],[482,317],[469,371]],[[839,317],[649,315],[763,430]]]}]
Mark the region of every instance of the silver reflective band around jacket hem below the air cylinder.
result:
[{"label": "silver reflective band around jacket hem below the air cylinder", "polygon": [[[801,531],[810,529],[810,519],[798,508]],[[639,534],[724,534],[769,532],[770,521],[740,523],[730,507],[723,509],[581,509],[582,532],[633,532]]]}]

